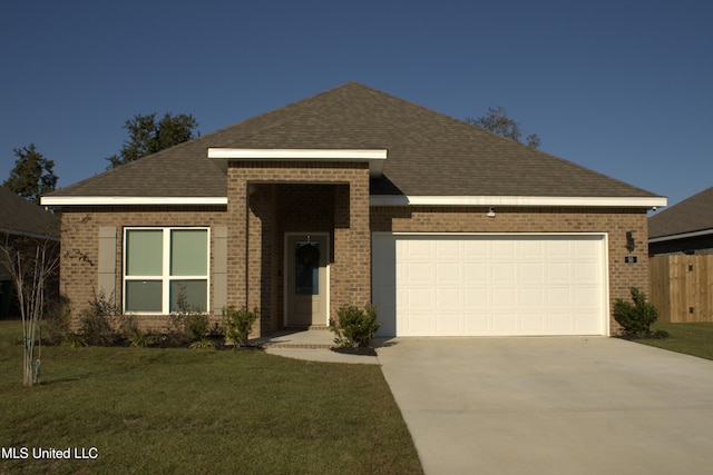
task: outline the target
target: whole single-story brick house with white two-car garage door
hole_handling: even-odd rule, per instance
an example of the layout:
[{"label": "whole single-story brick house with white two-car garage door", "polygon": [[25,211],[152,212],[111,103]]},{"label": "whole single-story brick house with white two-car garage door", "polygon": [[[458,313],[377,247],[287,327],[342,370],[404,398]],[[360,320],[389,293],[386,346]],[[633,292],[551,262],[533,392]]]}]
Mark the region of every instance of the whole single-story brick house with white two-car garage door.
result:
[{"label": "whole single-story brick house with white two-car garage door", "polygon": [[[611,335],[666,199],[360,83],[56,191],[61,290],[255,336],[378,306],[383,336]],[[68,253],[67,253],[68,251]]]}]

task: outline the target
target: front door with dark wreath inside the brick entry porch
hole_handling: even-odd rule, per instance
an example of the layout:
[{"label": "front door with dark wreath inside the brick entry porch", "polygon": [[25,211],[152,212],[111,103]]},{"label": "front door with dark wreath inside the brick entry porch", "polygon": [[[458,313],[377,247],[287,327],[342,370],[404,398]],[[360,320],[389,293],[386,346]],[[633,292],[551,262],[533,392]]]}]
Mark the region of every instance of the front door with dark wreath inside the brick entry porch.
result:
[{"label": "front door with dark wreath inside the brick entry porch", "polygon": [[328,325],[329,235],[289,234],[285,255],[285,325]]}]

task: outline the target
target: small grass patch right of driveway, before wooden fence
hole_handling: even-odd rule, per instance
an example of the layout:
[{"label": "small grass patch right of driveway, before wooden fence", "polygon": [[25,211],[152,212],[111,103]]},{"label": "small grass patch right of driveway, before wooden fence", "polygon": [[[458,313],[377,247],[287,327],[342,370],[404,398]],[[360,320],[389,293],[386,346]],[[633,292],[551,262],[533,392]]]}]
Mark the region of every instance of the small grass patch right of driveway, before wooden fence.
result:
[{"label": "small grass patch right of driveway, before wooden fence", "polygon": [[686,355],[713,359],[713,323],[665,324],[657,321],[652,329],[663,329],[671,335],[666,339],[635,339],[634,342]]}]

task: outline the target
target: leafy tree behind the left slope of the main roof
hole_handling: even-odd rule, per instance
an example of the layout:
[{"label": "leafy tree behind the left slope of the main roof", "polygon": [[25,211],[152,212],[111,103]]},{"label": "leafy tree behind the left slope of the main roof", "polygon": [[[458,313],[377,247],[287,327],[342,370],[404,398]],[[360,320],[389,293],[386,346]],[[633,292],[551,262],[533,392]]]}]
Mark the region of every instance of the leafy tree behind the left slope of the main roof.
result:
[{"label": "leafy tree behind the left slope of the main roof", "polygon": [[173,116],[166,112],[160,120],[156,120],[156,112],[148,116],[136,115],[124,125],[129,131],[129,139],[124,141],[117,155],[107,158],[107,169],[191,140],[195,137],[194,131],[197,127],[198,121],[192,115]]}]

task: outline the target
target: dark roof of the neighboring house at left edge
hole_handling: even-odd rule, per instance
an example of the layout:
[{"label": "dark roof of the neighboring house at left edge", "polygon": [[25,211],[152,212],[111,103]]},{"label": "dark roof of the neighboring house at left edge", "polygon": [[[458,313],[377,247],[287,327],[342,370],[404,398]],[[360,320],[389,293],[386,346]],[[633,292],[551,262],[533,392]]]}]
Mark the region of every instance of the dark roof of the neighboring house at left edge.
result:
[{"label": "dark roof of the neighboring house at left edge", "polygon": [[59,237],[59,218],[0,186],[0,232]]}]

